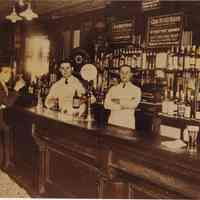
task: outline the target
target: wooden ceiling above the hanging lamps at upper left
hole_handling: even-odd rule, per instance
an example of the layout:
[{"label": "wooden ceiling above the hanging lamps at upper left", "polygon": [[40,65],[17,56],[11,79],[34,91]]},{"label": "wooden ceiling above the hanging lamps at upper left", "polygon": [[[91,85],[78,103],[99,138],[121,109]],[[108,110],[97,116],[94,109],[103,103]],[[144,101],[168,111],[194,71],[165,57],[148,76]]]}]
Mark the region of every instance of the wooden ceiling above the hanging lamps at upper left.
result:
[{"label": "wooden ceiling above the hanging lamps at upper left", "polygon": [[[27,0],[24,0],[26,2]],[[11,13],[19,0],[0,0],[0,21]],[[41,17],[58,19],[105,7],[106,0],[31,0],[32,9]]]}]

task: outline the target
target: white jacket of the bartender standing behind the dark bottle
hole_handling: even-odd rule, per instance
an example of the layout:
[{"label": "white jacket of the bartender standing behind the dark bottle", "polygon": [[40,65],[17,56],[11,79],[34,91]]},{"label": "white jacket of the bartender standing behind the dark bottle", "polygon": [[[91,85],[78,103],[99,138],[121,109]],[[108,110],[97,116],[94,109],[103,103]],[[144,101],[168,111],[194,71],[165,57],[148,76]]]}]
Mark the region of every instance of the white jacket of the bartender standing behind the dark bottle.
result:
[{"label": "white jacket of the bartender standing behind the dark bottle", "polygon": [[[61,78],[57,81],[50,89],[49,94],[45,100],[45,105],[47,108],[51,108],[53,105],[48,103],[51,98],[58,98],[59,107],[61,111],[67,111],[68,114],[73,113],[72,102],[75,91],[81,96],[85,94],[85,88],[82,83],[73,75],[71,75],[67,84],[65,83],[65,78]],[[85,104],[82,104],[79,112],[82,114],[85,111]]]}]

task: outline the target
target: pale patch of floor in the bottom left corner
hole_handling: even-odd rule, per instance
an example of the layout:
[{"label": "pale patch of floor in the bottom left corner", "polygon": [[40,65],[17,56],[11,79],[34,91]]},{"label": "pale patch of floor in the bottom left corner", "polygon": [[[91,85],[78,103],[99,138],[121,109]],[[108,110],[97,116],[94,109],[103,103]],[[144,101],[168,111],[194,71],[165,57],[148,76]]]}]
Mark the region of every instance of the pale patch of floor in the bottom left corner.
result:
[{"label": "pale patch of floor in the bottom left corner", "polygon": [[0,198],[28,198],[27,192],[0,170]]}]

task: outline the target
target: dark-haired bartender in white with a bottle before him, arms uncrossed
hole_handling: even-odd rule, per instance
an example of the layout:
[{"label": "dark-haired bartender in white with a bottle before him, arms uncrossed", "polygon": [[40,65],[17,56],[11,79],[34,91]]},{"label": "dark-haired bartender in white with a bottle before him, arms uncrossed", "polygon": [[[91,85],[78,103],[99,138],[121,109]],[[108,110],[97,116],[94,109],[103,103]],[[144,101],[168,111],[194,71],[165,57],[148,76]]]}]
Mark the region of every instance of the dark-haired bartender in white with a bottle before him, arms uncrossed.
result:
[{"label": "dark-haired bartender in white with a bottle before him, arms uncrossed", "polygon": [[[62,78],[51,87],[45,100],[45,106],[47,108],[52,108],[55,105],[55,101],[58,99],[61,112],[73,114],[73,96],[76,91],[79,97],[83,96],[85,94],[85,88],[82,83],[72,75],[73,67],[70,62],[61,62],[59,70]],[[84,111],[85,104],[82,103],[79,108],[79,115]]]}]

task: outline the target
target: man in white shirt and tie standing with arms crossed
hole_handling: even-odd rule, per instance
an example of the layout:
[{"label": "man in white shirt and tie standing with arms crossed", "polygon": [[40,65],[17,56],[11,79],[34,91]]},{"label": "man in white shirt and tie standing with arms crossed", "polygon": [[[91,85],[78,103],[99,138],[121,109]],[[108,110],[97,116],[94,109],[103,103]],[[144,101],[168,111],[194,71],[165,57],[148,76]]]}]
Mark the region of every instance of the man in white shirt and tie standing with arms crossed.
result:
[{"label": "man in white shirt and tie standing with arms crossed", "polygon": [[121,82],[110,88],[104,107],[111,110],[109,124],[135,129],[135,109],[141,100],[141,90],[131,83],[131,76],[131,67],[121,66]]}]

